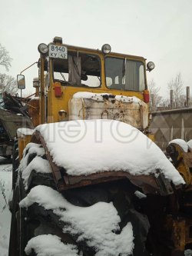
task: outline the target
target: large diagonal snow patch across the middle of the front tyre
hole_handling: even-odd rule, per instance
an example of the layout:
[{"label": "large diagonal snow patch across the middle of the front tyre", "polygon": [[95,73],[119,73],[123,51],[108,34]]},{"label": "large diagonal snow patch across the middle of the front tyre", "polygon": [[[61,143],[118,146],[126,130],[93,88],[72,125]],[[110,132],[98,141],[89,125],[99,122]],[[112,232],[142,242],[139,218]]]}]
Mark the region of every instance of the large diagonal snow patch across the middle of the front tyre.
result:
[{"label": "large diagonal snow patch across the middle of the front tyre", "polygon": [[99,202],[86,208],[74,206],[58,191],[42,185],[32,188],[19,205],[28,208],[35,202],[65,222],[64,233],[69,232],[77,241],[86,241],[89,247],[95,248],[95,256],[127,256],[133,251],[131,223],[127,223],[120,234],[115,234],[120,230],[121,219],[112,203]]}]

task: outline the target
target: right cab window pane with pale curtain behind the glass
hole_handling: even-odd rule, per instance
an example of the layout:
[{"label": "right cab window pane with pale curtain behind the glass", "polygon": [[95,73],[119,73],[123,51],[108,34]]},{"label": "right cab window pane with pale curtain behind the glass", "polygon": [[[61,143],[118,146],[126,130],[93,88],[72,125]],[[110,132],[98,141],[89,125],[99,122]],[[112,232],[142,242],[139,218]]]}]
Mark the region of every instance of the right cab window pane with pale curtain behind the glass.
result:
[{"label": "right cab window pane with pale curtain behind the glass", "polygon": [[111,89],[144,91],[144,64],[127,58],[105,58],[106,85]]}]

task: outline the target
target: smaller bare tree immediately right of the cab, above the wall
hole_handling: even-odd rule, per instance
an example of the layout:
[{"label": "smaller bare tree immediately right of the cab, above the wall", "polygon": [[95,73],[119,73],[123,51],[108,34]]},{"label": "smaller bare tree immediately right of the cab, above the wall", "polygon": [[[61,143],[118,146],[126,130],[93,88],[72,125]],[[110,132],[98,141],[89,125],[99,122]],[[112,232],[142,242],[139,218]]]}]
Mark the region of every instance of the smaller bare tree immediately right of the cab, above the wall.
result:
[{"label": "smaller bare tree immediately right of the cab, above the wall", "polygon": [[160,87],[157,87],[154,79],[148,82],[148,88],[150,91],[150,107],[151,111],[156,111],[157,106],[160,105],[162,97],[159,95]]}]

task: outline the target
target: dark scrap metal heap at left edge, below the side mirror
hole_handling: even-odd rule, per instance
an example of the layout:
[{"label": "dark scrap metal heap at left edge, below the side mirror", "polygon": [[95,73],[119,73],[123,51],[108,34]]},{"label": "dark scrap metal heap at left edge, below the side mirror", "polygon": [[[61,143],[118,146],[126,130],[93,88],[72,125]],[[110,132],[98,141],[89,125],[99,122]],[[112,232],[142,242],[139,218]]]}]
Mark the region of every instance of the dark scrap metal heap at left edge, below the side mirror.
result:
[{"label": "dark scrap metal heap at left edge, below the side mirror", "polygon": [[12,157],[13,141],[21,127],[33,128],[27,106],[18,96],[4,92],[0,102],[0,156]]}]

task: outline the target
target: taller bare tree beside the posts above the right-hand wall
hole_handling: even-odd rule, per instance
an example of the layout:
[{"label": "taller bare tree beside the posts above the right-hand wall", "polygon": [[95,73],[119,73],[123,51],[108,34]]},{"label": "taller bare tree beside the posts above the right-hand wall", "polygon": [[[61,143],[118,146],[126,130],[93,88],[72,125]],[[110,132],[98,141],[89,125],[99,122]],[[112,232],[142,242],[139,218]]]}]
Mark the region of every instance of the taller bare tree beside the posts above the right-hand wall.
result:
[{"label": "taller bare tree beside the posts above the right-hand wall", "polygon": [[184,101],[182,101],[182,95],[184,92],[184,84],[180,73],[168,82],[168,88],[169,90],[173,90],[175,108],[183,107]]}]

